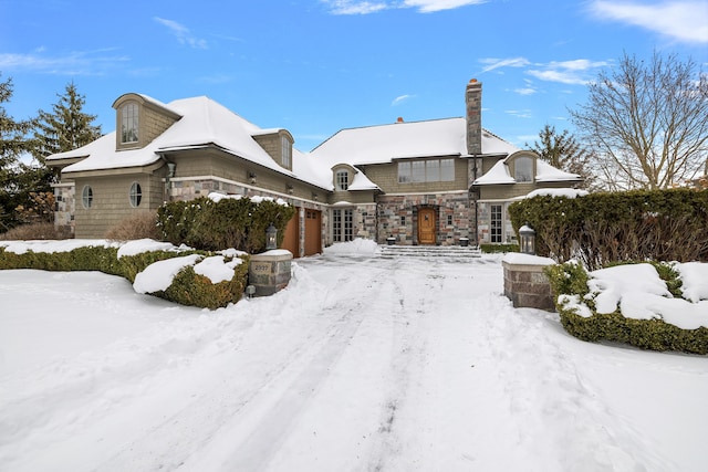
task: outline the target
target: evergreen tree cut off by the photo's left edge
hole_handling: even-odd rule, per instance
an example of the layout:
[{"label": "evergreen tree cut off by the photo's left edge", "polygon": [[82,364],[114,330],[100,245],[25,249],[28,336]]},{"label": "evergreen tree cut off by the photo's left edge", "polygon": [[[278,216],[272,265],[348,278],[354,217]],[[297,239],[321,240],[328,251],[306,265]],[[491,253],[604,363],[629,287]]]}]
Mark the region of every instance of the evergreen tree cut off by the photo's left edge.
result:
[{"label": "evergreen tree cut off by the photo's left edge", "polygon": [[0,232],[18,223],[14,208],[22,200],[22,177],[27,168],[20,156],[30,150],[25,135],[31,122],[13,119],[3,105],[12,98],[12,78],[0,82]]}]

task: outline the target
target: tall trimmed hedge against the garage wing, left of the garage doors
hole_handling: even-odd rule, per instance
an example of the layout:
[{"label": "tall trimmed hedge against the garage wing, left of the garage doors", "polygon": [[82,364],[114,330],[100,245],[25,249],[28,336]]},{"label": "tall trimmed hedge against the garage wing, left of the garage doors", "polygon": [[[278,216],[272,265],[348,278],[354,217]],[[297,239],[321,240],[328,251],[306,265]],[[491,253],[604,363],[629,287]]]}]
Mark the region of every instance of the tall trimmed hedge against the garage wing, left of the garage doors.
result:
[{"label": "tall trimmed hedge against the garage wing, left of the garage doors", "polygon": [[295,209],[272,200],[254,202],[249,198],[225,198],[218,202],[207,197],[190,201],[171,201],[157,211],[162,239],[206,251],[236,248],[250,254],[266,249],[266,229],[278,229],[279,244]]}]

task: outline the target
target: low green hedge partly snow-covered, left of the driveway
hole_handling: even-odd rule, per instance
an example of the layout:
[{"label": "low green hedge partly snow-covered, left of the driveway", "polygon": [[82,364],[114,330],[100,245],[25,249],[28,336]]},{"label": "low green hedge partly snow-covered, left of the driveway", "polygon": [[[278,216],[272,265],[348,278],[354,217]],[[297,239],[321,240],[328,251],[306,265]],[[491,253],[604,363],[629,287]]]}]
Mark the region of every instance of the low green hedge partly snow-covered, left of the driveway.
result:
[{"label": "low green hedge partly snow-covered, left of the driveway", "polygon": [[[188,254],[214,255],[206,251],[154,251],[136,255],[117,258],[116,248],[85,247],[67,252],[32,252],[15,254],[0,248],[0,270],[2,269],[38,269],[44,271],[100,271],[111,275],[119,275],[131,283],[135,276],[148,265],[175,256]],[[228,261],[228,258],[226,258]],[[233,271],[230,281],[211,283],[211,281],[195,273],[194,269],[183,269],[173,280],[171,285],[165,291],[158,291],[150,295],[180,303],[183,305],[198,306],[216,310],[225,307],[229,303],[240,300],[248,283],[248,258],[243,256],[243,263]]]}]

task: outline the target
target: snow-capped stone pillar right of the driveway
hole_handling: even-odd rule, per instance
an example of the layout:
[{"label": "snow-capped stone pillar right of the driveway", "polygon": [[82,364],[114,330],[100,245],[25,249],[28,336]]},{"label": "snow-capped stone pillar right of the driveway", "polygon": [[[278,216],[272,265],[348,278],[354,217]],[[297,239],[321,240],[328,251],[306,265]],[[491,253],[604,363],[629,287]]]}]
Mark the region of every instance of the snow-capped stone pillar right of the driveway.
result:
[{"label": "snow-capped stone pillar right of the driveway", "polygon": [[514,308],[555,311],[551,284],[543,268],[555,264],[549,258],[509,253],[501,261],[504,270],[504,296]]}]

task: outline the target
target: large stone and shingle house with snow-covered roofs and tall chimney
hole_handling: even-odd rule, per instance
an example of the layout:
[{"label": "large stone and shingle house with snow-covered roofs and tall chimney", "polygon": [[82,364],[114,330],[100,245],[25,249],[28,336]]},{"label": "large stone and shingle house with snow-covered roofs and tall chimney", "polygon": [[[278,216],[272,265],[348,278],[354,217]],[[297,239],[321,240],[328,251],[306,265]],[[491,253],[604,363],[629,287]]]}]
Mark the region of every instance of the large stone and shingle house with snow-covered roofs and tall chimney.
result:
[{"label": "large stone and shingle house with snow-covered roofs and tall chimney", "polygon": [[509,203],[581,182],[483,129],[475,80],[466,117],[342,129],[306,154],[287,129],[259,128],[207,97],[163,104],[128,93],[113,107],[116,132],[46,159],[61,170],[56,224],[76,238],[102,238],[165,201],[222,192],[296,207],[283,242],[295,256],[354,238],[506,243],[516,239]]}]

